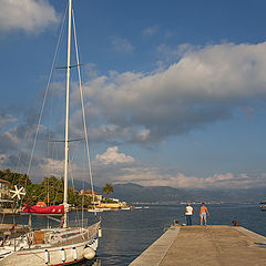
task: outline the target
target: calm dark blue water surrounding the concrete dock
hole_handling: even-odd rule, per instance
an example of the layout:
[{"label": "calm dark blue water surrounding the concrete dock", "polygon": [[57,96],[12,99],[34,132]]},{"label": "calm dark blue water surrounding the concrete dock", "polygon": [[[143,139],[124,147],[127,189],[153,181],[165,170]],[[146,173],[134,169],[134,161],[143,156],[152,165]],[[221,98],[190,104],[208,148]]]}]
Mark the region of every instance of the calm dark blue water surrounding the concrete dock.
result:
[{"label": "calm dark blue water surrounding the concrete dock", "polygon": [[[103,212],[103,237],[100,238],[98,258],[93,266],[125,266],[146,249],[174,219],[185,223],[185,205],[151,205],[150,208]],[[194,205],[193,224],[198,224],[200,205]],[[266,212],[258,205],[207,205],[211,216],[208,224],[232,225],[232,221],[253,232],[266,236]],[[72,218],[76,213],[71,213]],[[79,213],[79,216],[81,214]],[[85,213],[85,218],[94,219],[94,214]],[[25,219],[25,217],[24,217]],[[34,224],[43,225],[43,218],[38,217]],[[81,263],[81,266],[92,265]]]}]

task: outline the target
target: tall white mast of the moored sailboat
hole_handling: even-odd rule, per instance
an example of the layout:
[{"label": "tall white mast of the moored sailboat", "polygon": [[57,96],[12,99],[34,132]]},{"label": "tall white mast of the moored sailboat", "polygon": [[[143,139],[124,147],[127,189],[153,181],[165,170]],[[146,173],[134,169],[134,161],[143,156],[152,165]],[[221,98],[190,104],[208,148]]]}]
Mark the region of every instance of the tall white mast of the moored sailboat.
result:
[{"label": "tall white mast of the moored sailboat", "polygon": [[64,219],[63,227],[68,226],[68,161],[69,161],[69,102],[70,102],[70,51],[71,51],[71,14],[72,0],[69,0],[69,33],[68,33],[68,68],[66,68],[66,104],[65,104],[65,136],[64,136]]}]

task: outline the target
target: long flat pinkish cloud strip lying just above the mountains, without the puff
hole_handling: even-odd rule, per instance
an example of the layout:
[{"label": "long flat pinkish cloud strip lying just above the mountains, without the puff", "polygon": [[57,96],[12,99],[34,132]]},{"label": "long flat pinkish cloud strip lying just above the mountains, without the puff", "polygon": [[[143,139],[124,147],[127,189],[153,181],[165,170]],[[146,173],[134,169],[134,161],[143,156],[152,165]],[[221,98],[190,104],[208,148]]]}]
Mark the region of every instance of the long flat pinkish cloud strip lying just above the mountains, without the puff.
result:
[{"label": "long flat pinkish cloud strip lying just above the mountains, without the puff", "polygon": [[123,167],[120,172],[109,172],[109,178],[113,183],[133,182],[143,186],[172,186],[176,188],[252,188],[266,186],[266,174],[254,177],[245,173],[234,175],[232,173],[214,174],[208,177],[186,176],[184,173],[171,175],[162,173],[156,167],[133,165],[132,167]]}]

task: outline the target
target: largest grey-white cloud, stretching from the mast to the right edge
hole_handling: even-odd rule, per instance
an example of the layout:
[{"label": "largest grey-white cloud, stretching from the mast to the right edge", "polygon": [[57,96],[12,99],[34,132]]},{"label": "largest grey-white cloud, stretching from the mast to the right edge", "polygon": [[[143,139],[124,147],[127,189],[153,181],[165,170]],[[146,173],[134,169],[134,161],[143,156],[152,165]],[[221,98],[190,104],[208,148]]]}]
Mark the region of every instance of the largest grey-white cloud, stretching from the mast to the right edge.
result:
[{"label": "largest grey-white cloud, stretching from the mast to the right edge", "polygon": [[91,124],[112,129],[104,137],[158,143],[232,119],[238,110],[252,114],[265,100],[266,43],[181,50],[180,60],[160,72],[112,71],[88,82],[84,95],[98,114]]}]

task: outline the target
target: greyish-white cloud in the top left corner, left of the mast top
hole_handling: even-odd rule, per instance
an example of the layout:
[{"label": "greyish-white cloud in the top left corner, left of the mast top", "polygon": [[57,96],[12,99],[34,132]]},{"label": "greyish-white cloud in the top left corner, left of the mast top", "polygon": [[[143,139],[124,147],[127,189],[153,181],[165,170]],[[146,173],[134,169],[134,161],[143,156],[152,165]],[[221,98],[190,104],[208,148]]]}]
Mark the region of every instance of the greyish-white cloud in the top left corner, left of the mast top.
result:
[{"label": "greyish-white cloud in the top left corner, left of the mast top", "polygon": [[47,0],[0,0],[0,29],[38,32],[58,23],[58,14]]}]

